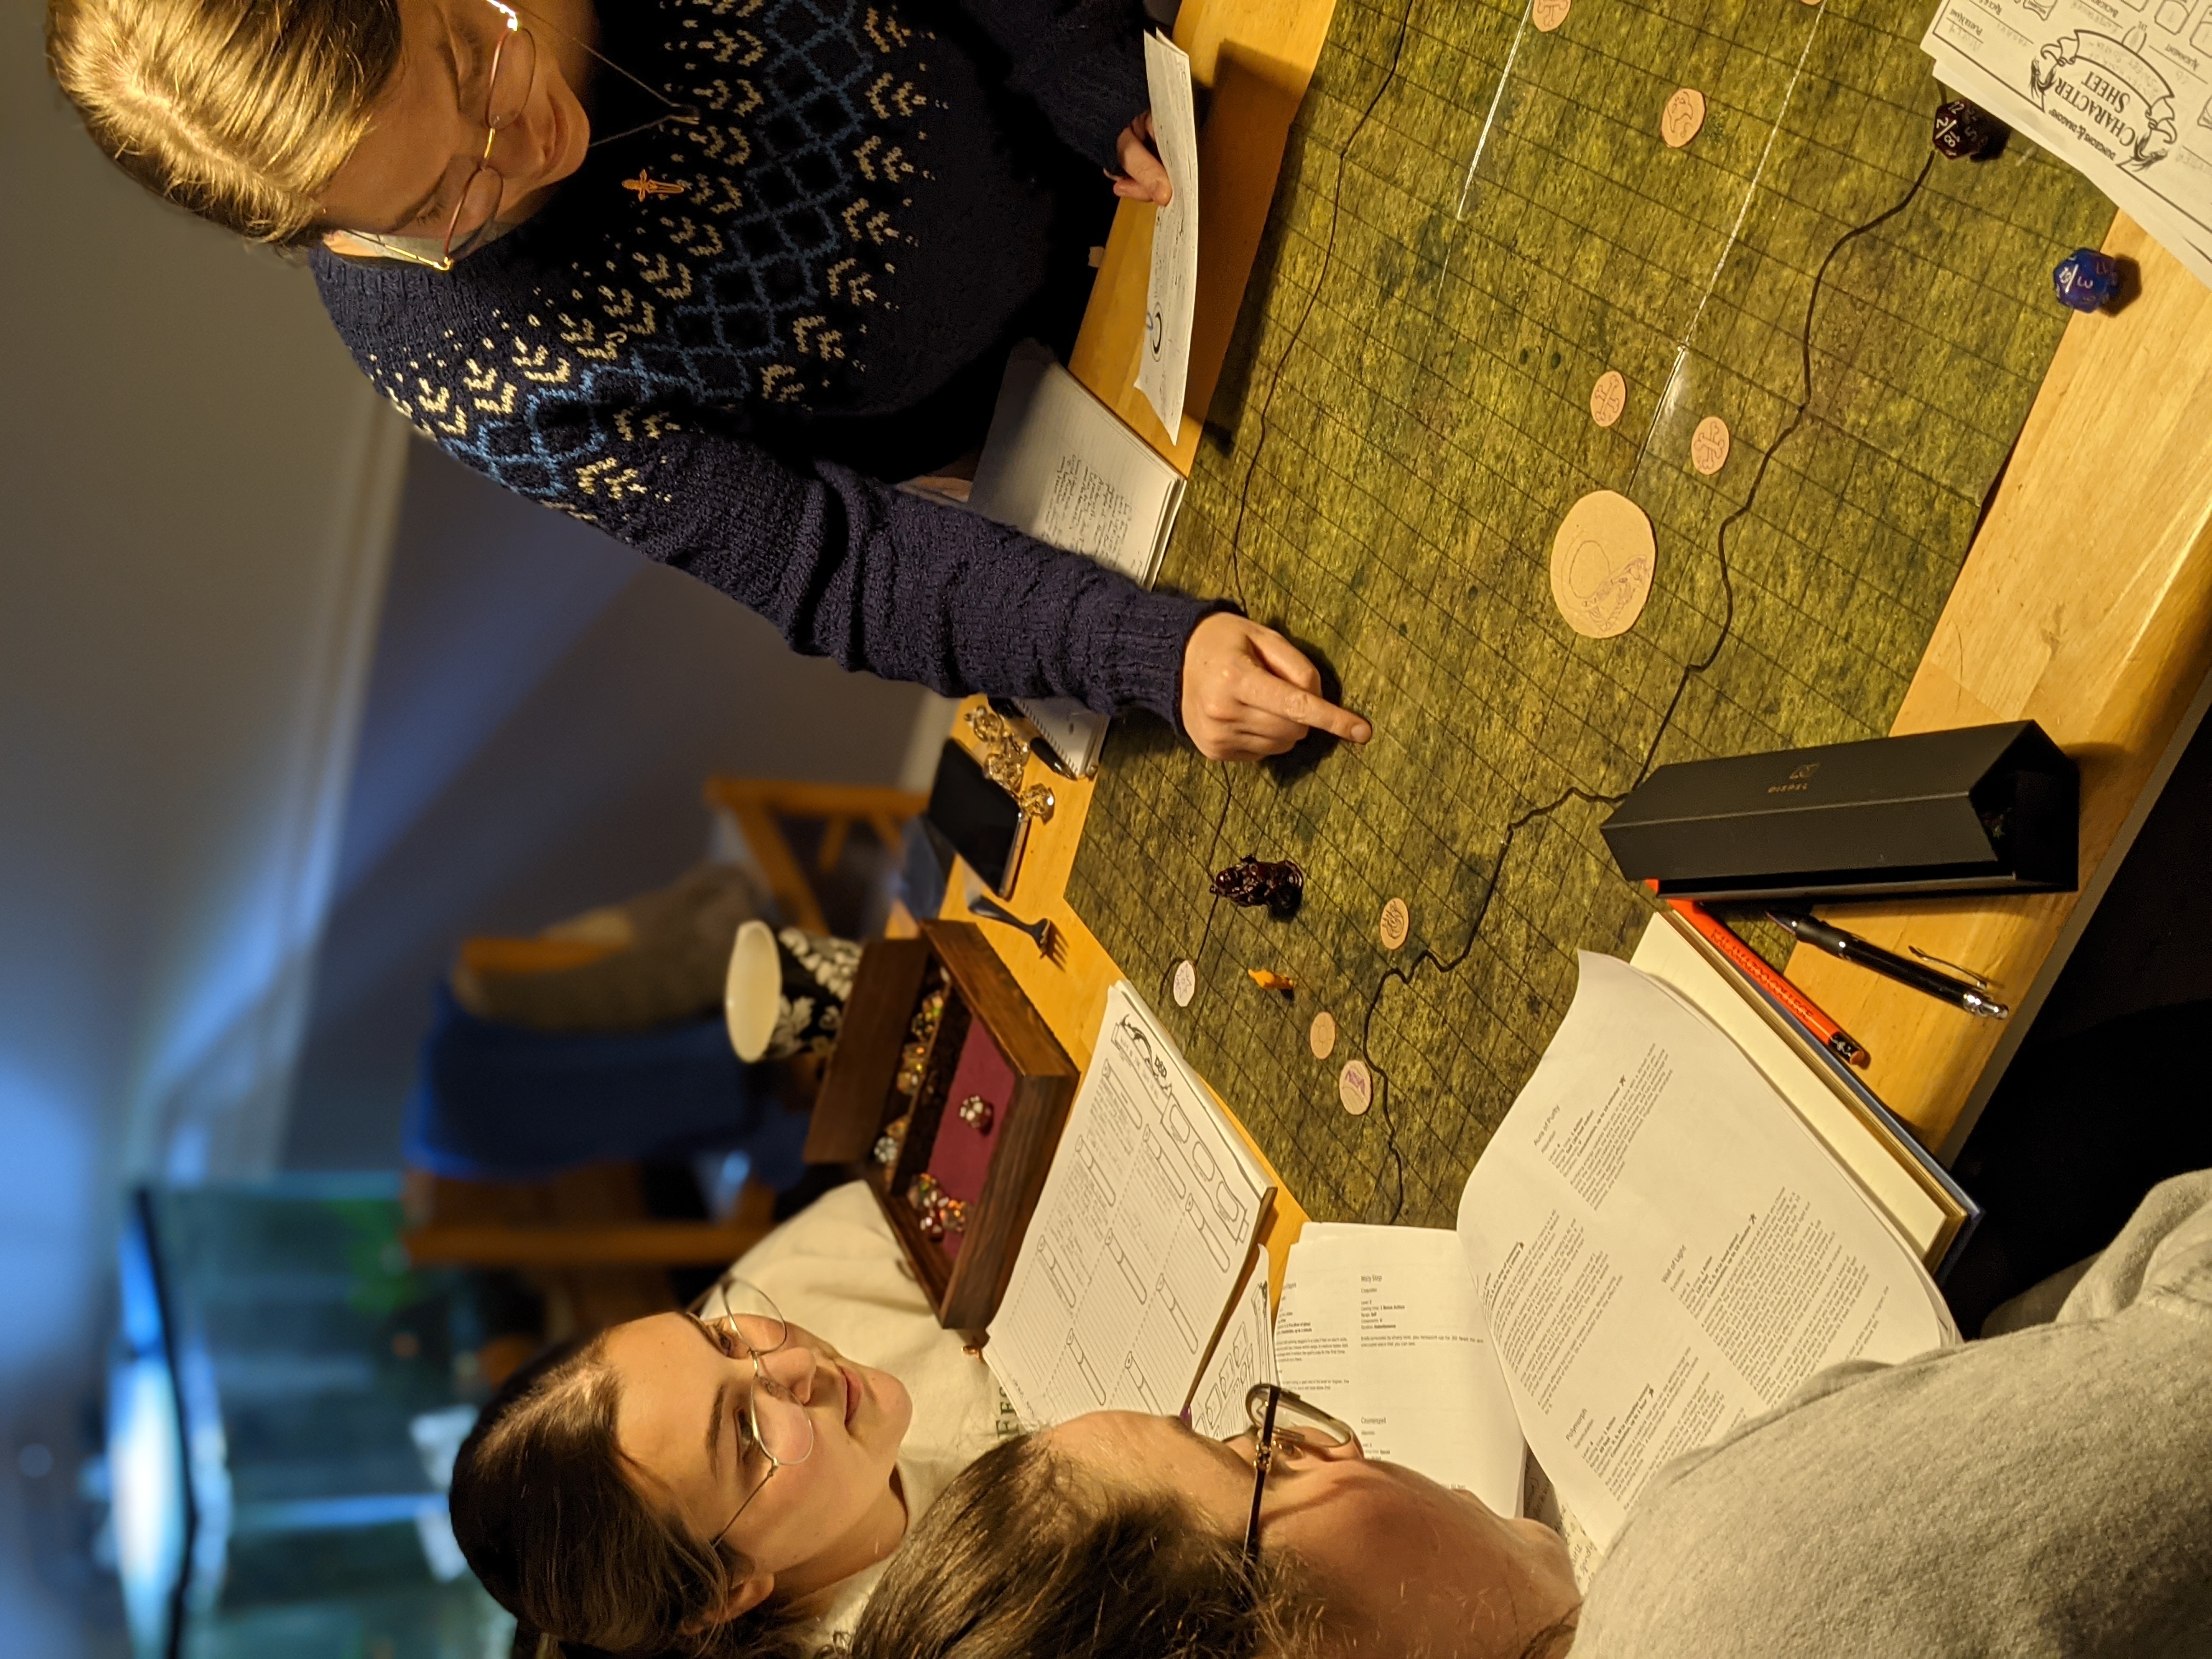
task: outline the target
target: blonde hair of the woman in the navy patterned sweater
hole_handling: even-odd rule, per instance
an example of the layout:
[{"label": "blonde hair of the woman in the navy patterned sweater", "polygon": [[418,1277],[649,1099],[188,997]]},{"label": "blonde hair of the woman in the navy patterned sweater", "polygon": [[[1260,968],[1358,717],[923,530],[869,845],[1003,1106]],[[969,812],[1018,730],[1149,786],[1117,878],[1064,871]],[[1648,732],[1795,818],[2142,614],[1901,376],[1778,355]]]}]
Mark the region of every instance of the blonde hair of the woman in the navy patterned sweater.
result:
[{"label": "blonde hair of the woman in the navy patterned sweater", "polygon": [[46,0],[46,66],[159,197],[299,243],[400,58],[398,0]]}]

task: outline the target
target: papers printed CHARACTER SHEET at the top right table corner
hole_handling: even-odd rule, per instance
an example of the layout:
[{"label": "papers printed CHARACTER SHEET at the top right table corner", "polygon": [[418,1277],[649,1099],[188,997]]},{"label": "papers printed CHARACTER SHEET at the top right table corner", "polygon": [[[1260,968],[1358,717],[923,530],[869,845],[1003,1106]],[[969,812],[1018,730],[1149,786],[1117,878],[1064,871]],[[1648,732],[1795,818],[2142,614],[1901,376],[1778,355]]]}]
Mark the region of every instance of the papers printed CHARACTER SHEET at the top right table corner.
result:
[{"label": "papers printed CHARACTER SHEET at the top right table corner", "polygon": [[1936,77],[2079,168],[2212,283],[2212,11],[2194,0],[1944,0]]}]

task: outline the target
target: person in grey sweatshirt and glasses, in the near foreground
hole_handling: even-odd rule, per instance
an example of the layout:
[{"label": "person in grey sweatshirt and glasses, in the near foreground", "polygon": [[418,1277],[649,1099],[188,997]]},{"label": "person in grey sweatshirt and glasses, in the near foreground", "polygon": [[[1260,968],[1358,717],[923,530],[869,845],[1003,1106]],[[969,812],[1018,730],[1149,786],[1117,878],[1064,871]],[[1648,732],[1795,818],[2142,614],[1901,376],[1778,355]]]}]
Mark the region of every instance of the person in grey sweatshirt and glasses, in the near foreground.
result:
[{"label": "person in grey sweatshirt and glasses, in the near foreground", "polygon": [[1628,1498],[1582,1588],[1551,1528],[1256,1387],[1228,1442],[1102,1411],[980,1455],[849,1659],[2212,1655],[2208,1378],[2199,1170],[1978,1340],[1717,1425]]}]

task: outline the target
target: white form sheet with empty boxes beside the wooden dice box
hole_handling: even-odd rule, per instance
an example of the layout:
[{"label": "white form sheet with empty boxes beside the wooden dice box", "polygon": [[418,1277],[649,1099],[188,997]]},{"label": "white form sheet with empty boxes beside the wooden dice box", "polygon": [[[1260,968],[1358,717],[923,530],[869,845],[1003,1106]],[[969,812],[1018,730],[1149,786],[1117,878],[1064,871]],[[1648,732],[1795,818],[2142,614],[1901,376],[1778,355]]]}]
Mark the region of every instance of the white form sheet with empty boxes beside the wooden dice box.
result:
[{"label": "white form sheet with empty boxes beside the wooden dice box", "polygon": [[1121,980],[984,1360],[1029,1427],[1181,1411],[1274,1188]]}]

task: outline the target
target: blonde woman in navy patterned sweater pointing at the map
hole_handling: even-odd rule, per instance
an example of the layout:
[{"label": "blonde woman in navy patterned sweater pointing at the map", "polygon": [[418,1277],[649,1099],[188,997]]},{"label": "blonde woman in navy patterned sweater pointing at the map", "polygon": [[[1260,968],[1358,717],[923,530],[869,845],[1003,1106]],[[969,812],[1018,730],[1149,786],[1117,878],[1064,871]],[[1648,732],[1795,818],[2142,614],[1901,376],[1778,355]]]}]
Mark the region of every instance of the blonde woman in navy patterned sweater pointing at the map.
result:
[{"label": "blonde woman in navy patterned sweater pointing at the map", "polygon": [[1365,721],[1279,633],[891,480],[1073,343],[1113,192],[1164,201],[1139,0],[49,0],[166,199],[307,250],[447,453],[940,692],[1148,708],[1217,759]]}]

